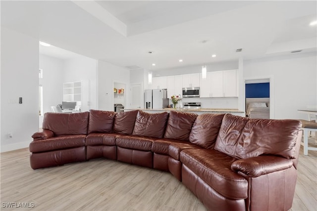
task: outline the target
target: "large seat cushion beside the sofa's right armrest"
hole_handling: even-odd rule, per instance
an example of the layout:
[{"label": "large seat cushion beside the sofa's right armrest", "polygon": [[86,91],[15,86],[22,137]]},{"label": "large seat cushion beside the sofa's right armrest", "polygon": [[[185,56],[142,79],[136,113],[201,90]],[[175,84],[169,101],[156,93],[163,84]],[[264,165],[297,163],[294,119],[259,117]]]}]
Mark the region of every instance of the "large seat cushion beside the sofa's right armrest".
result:
[{"label": "large seat cushion beside the sofa's right armrest", "polygon": [[248,197],[248,181],[231,170],[235,158],[213,149],[186,149],[180,153],[180,161],[222,196]]}]

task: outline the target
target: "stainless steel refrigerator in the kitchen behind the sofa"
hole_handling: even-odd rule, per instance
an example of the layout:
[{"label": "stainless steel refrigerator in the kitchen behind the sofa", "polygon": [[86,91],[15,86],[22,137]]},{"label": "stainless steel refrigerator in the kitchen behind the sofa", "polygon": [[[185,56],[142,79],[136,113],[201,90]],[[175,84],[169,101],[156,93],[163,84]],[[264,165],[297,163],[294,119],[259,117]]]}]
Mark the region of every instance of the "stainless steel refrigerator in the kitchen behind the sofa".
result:
[{"label": "stainless steel refrigerator in the kitchen behind the sofa", "polygon": [[167,108],[167,89],[146,89],[144,90],[144,108]]}]

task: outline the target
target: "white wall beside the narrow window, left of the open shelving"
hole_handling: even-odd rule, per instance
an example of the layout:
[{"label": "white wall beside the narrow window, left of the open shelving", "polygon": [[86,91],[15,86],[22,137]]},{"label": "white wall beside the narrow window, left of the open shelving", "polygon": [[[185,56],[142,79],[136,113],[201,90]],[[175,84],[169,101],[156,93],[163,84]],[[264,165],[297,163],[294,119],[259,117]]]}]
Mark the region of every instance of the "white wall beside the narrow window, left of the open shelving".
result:
[{"label": "white wall beside the narrow window, left of the open shelving", "polygon": [[[43,69],[43,114],[51,112],[51,106],[60,104],[63,100],[64,60],[40,54],[40,69]],[[43,116],[39,126],[43,125]]]}]

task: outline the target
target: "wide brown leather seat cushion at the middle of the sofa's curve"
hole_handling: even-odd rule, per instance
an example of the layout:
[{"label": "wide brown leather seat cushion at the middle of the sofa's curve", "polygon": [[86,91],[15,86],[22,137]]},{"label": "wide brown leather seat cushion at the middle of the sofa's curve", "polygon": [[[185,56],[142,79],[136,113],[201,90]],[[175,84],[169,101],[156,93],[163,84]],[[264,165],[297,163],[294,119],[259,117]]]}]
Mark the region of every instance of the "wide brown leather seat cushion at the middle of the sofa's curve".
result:
[{"label": "wide brown leather seat cushion at the middle of the sofa's curve", "polygon": [[152,143],[156,138],[138,135],[120,135],[116,137],[115,145],[127,149],[151,151]]}]

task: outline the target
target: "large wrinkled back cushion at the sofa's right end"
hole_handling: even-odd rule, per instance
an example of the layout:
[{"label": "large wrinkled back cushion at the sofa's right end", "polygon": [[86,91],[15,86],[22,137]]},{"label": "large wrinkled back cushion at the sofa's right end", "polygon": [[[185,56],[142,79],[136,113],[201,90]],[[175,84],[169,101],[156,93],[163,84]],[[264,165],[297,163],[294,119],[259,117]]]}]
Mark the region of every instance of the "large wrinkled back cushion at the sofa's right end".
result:
[{"label": "large wrinkled back cushion at the sofa's right end", "polygon": [[248,119],[226,115],[214,149],[237,159],[268,154],[293,159],[301,126],[297,120]]}]

